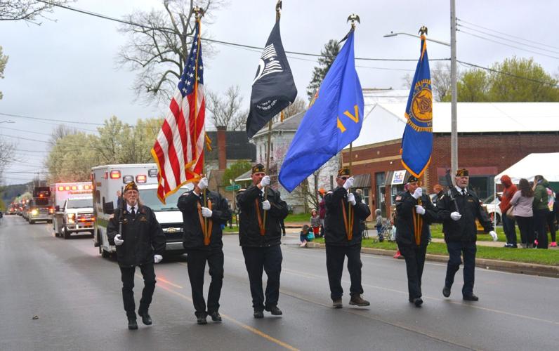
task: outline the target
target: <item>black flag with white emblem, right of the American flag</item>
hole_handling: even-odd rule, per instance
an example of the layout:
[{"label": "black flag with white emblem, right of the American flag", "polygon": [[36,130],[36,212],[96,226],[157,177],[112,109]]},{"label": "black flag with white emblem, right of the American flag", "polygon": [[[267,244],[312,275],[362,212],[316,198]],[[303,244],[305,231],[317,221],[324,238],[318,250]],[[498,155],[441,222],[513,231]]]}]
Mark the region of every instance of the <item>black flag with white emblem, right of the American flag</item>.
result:
[{"label": "black flag with white emblem, right of the American flag", "polygon": [[249,138],[294,102],[296,97],[297,88],[285,56],[278,20],[268,37],[252,82],[251,109],[246,118],[246,134]]}]

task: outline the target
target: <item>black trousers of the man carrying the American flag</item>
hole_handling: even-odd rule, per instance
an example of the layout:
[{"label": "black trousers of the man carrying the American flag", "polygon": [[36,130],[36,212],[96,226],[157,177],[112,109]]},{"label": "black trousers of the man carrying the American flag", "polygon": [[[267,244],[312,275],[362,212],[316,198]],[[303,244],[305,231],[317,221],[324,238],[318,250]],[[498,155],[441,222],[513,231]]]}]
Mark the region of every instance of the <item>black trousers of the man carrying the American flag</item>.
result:
[{"label": "black trousers of the man carrying the American flag", "polygon": [[[208,310],[204,300],[204,272],[206,262],[209,266],[211,282],[208,291]],[[192,287],[192,302],[196,317],[203,317],[219,310],[219,297],[223,286],[223,250],[192,250],[188,251],[188,278]]]}]

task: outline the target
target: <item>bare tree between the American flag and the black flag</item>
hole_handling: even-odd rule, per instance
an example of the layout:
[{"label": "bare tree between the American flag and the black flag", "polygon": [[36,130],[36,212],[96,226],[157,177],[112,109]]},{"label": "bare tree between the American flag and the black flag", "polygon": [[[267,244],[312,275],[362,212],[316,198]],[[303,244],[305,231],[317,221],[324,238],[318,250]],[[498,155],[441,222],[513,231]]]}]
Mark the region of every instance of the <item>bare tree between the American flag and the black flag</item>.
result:
[{"label": "bare tree between the American flag and the black flag", "polygon": [[242,131],[246,124],[247,111],[242,111],[242,95],[239,86],[227,88],[223,97],[206,91],[206,109],[211,112],[214,126],[225,126],[228,131]]}]

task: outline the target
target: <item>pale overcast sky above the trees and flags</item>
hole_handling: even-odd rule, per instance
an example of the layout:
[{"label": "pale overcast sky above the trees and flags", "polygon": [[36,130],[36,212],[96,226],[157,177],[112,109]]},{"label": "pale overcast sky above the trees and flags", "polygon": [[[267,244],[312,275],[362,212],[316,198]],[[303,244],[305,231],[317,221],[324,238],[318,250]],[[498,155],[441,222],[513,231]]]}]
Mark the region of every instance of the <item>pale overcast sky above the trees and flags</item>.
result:
[{"label": "pale overcast sky above the trees and flags", "polygon": [[[122,18],[134,11],[160,9],[161,2],[78,0],[70,5]],[[230,0],[227,6],[214,14],[213,24],[204,25],[202,20],[202,37],[262,47],[274,24],[275,2]],[[463,21],[462,25],[469,27],[462,27],[463,32],[510,45],[496,44],[459,32],[459,60],[487,67],[512,55],[533,57],[548,73],[558,73],[557,1],[456,0],[456,3],[456,17]],[[421,25],[426,25],[428,37],[449,42],[449,4],[449,0],[284,0],[282,41],[287,51],[320,53],[329,39],[341,39],[346,34],[349,29],[346,18],[351,13],[357,13],[361,25],[357,26],[355,34],[355,57],[416,60],[419,39],[405,36],[383,38],[383,34],[390,31],[416,34]],[[101,124],[115,115],[129,124],[135,124],[138,118],[158,117],[166,113],[167,103],[145,106],[138,102],[132,90],[134,72],[119,69],[116,64],[119,47],[127,39],[117,31],[117,22],[63,8],[55,9],[49,16],[56,21],[43,20],[40,26],[25,22],[0,22],[0,46],[4,48],[4,55],[10,57],[4,71],[5,79],[0,79],[0,91],[4,93],[4,99],[0,100],[0,113],[64,119],[75,122],[68,126],[91,131],[95,131],[96,126],[84,122]],[[513,41],[490,37],[473,29]],[[548,46],[541,46],[546,51],[538,50],[532,47],[538,44],[498,32]],[[216,92],[238,85],[248,109],[251,82],[261,53],[219,44],[214,44],[213,48],[216,54],[204,57],[204,83]],[[522,51],[521,48],[538,53]],[[449,47],[434,43],[428,44],[428,53],[430,59],[450,57]],[[298,95],[306,100],[306,86],[316,61],[308,56],[288,56]],[[363,88],[407,88],[402,77],[407,72],[413,72],[416,62],[358,60],[356,65]],[[435,62],[431,62],[432,69],[434,66]],[[459,65],[459,69],[464,68]],[[47,144],[43,142],[48,140],[48,134],[58,123],[0,115],[0,121],[8,119],[15,123],[1,123],[0,134],[6,140],[13,140],[18,150],[34,151],[18,151],[23,162],[15,163],[6,170],[4,184],[25,183],[33,178],[32,172],[44,170],[41,165]],[[29,173],[10,173],[21,171]]]}]

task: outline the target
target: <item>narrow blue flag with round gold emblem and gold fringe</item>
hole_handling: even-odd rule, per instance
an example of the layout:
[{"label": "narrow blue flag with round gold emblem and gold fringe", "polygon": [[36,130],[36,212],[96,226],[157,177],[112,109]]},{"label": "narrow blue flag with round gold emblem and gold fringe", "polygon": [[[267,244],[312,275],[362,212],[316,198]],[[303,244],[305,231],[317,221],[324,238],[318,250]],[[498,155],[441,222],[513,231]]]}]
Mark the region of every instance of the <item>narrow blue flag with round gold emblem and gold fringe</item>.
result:
[{"label": "narrow blue flag with round gold emblem and gold fringe", "polygon": [[417,178],[429,166],[433,150],[433,93],[425,37],[406,106],[407,124],[402,136],[402,164]]}]

